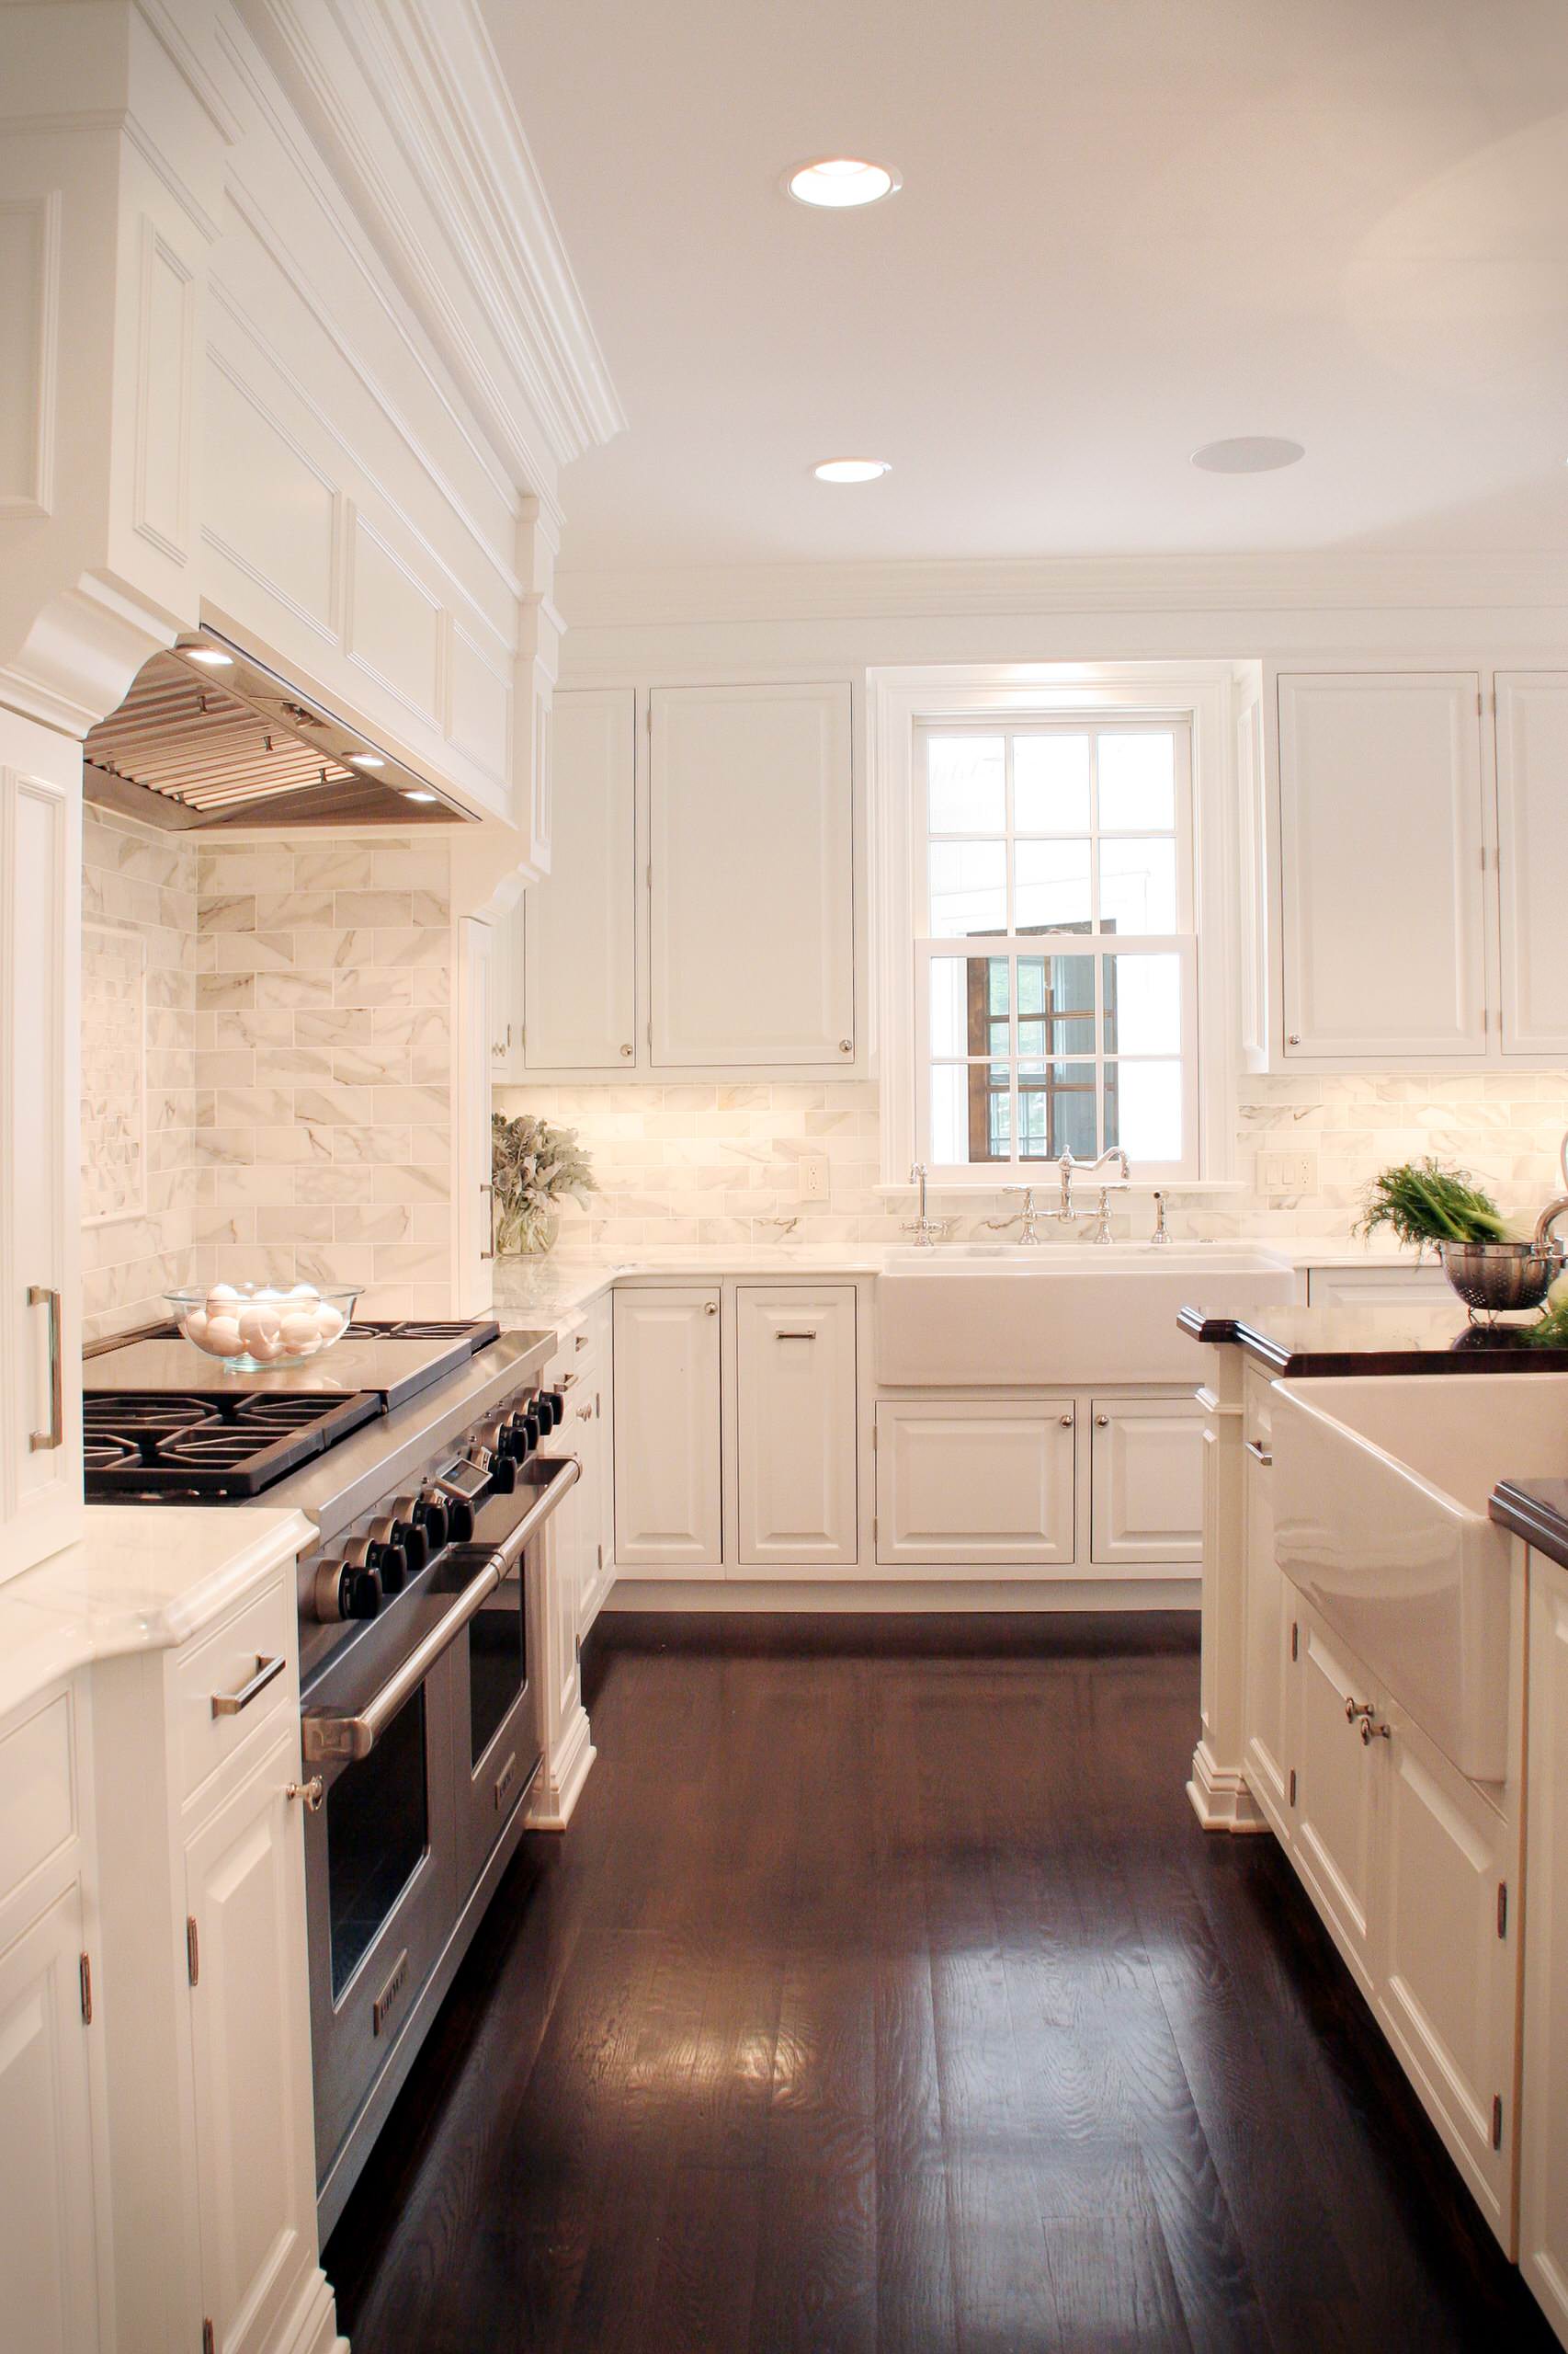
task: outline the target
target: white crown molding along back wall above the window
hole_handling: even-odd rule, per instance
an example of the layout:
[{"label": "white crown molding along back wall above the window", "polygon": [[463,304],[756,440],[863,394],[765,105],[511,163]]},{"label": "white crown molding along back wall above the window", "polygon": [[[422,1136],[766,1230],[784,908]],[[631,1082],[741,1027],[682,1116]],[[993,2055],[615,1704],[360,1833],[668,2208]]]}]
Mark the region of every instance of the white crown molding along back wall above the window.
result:
[{"label": "white crown molding along back wall above the window", "polygon": [[556,574],[570,629],[1050,612],[1568,607],[1568,556],[1045,556]]}]

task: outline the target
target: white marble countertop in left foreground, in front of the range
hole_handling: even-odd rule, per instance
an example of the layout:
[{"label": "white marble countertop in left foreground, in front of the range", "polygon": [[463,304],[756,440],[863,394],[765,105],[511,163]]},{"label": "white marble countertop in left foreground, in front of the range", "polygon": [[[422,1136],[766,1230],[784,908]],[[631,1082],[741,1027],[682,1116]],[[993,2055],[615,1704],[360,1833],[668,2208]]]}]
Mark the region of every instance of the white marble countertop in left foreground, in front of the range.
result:
[{"label": "white marble countertop in left foreground, in front of the range", "polygon": [[0,1587],[0,1716],[92,1660],[188,1643],[313,1540],[301,1511],[89,1504],[78,1544]]}]

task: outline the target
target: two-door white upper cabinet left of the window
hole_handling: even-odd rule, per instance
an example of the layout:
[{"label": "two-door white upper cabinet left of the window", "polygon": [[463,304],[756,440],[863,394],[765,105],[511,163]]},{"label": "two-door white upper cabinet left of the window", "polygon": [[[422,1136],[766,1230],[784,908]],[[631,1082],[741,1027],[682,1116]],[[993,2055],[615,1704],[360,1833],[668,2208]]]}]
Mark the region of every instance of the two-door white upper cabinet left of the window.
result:
[{"label": "two-door white upper cabinet left of the window", "polygon": [[553,831],[499,1078],[864,1073],[848,685],[558,694]]}]

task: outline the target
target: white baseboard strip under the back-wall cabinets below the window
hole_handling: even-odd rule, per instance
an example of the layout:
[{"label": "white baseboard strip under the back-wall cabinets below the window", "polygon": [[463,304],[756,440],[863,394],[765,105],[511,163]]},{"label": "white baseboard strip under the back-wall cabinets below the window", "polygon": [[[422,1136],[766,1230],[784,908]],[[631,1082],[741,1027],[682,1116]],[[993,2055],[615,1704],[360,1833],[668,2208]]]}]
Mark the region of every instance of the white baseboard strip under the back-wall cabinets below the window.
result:
[{"label": "white baseboard strip under the back-wall cabinets below the window", "polygon": [[1196,1610],[1196,1577],[617,1577],[605,1610]]}]

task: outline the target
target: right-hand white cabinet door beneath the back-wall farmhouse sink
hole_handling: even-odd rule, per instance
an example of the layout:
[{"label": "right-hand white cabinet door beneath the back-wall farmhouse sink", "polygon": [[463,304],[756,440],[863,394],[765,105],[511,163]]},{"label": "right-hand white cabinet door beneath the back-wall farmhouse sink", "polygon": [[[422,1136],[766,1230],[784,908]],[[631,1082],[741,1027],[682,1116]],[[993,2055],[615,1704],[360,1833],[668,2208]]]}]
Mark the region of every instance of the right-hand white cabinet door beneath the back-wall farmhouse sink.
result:
[{"label": "right-hand white cabinet door beneath the back-wall farmhouse sink", "polygon": [[1095,1398],[1090,1561],[1203,1561],[1203,1408],[1196,1398]]}]

